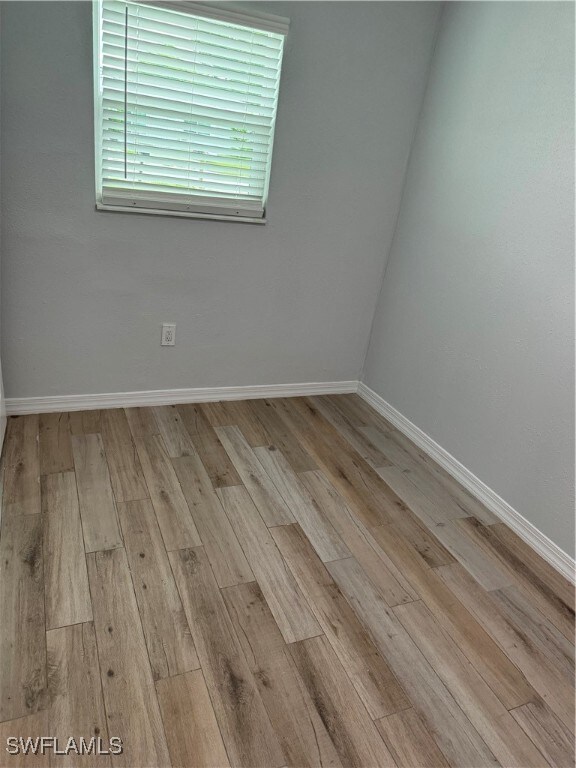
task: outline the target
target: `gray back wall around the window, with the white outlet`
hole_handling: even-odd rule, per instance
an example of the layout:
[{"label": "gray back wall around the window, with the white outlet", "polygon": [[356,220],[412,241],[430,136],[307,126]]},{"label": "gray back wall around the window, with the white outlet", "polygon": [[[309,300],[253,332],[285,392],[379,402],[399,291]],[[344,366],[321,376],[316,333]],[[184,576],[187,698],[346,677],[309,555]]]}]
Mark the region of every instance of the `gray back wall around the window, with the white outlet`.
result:
[{"label": "gray back wall around the window, with the white outlet", "polygon": [[358,378],[439,6],[257,6],[291,18],[265,226],[96,212],[90,4],[4,3],[8,397]]}]

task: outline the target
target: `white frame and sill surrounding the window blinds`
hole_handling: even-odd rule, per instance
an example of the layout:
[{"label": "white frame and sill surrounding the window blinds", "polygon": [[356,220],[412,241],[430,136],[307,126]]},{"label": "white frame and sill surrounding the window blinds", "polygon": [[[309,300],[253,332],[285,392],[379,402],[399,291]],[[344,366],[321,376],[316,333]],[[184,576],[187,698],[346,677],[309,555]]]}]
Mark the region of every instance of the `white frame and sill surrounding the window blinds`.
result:
[{"label": "white frame and sill surrounding the window blinds", "polygon": [[[121,195],[119,195],[119,202],[110,203],[103,201],[103,174],[102,174],[102,130],[103,130],[103,114],[102,114],[102,91],[100,83],[101,72],[101,29],[100,29],[100,6],[103,0],[92,0],[92,29],[93,29],[93,97],[94,97],[94,162],[95,162],[95,187],[96,187],[96,209],[98,211],[112,211],[117,213],[137,213],[154,216],[176,216],[180,218],[190,219],[208,219],[214,221],[235,221],[244,224],[266,224],[267,222],[267,203],[268,203],[268,190],[270,186],[270,175],[272,167],[272,158],[274,152],[274,139],[276,129],[276,117],[272,124],[272,130],[270,134],[270,161],[268,165],[268,173],[265,181],[263,192],[263,215],[262,216],[240,216],[230,213],[214,213],[210,211],[202,210],[186,210],[186,205],[182,202],[174,202],[174,208],[159,208],[154,207],[154,201],[147,201],[142,199],[139,204],[134,202],[132,205],[122,204]],[[259,11],[250,10],[249,13],[239,11],[237,8],[232,8],[226,5],[218,5],[214,7],[212,5],[205,5],[203,3],[189,2],[189,0],[130,0],[131,3],[137,5],[144,5],[150,7],[157,7],[167,10],[175,10],[180,13],[190,13],[191,15],[202,16],[205,18],[212,18],[219,21],[228,22],[231,24],[237,24],[239,26],[245,26],[252,29],[262,29],[268,32],[274,32],[275,34],[283,35],[284,49],[286,44],[286,37],[288,35],[288,28],[290,20],[283,16],[276,16],[267,13],[261,13]],[[279,61],[279,78],[282,76],[283,57],[281,55]],[[276,102],[276,110],[278,109],[279,93]],[[169,193],[168,193],[169,194]],[[109,196],[110,197],[110,196]],[[111,196],[113,198],[113,196]],[[206,197],[207,207],[218,208],[218,199],[212,198],[211,202],[208,202],[210,198]],[[158,201],[156,201],[158,202]],[[177,207],[179,206],[179,207]],[[201,203],[194,203],[194,207],[201,208]],[[192,207],[192,206],[190,206]],[[239,208],[242,208],[242,201],[239,201]]]}]

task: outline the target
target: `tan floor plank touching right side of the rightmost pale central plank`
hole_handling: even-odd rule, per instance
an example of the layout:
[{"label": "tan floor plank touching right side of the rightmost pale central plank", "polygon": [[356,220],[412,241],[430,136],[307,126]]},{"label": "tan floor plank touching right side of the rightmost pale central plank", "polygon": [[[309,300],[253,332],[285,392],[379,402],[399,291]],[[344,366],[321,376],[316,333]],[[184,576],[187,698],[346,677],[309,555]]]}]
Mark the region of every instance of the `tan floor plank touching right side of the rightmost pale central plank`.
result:
[{"label": "tan floor plank touching right side of the rightmost pale central plank", "polygon": [[419,594],[410,586],[402,570],[396,567],[372,534],[354,518],[344,499],[323,473],[304,472],[300,479],[388,605],[418,600]]}]

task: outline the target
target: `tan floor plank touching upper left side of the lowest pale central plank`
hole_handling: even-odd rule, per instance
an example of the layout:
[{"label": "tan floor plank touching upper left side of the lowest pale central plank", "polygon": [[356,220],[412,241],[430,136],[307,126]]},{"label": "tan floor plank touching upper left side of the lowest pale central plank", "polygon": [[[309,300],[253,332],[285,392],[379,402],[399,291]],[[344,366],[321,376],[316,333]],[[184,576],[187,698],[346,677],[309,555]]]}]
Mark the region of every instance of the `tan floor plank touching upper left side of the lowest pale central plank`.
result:
[{"label": "tan floor plank touching upper left side of the lowest pale central plank", "polygon": [[198,455],[173,459],[172,464],[218,586],[253,581],[246,555]]}]

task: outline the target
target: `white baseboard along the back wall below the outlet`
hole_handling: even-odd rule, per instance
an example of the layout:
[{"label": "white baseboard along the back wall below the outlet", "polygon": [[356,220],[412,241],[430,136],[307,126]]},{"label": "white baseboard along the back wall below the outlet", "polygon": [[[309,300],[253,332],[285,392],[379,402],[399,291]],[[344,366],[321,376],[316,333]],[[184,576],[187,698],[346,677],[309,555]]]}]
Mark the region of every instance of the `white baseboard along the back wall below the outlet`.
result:
[{"label": "white baseboard along the back wall below the outlet", "polygon": [[256,384],[240,387],[153,389],[140,392],[107,392],[98,395],[51,395],[6,398],[9,415],[51,411],[89,411],[97,408],[129,408],[174,403],[208,403],[217,400],[252,400],[260,397],[299,397],[356,392],[357,381],[318,381],[296,384]]}]

